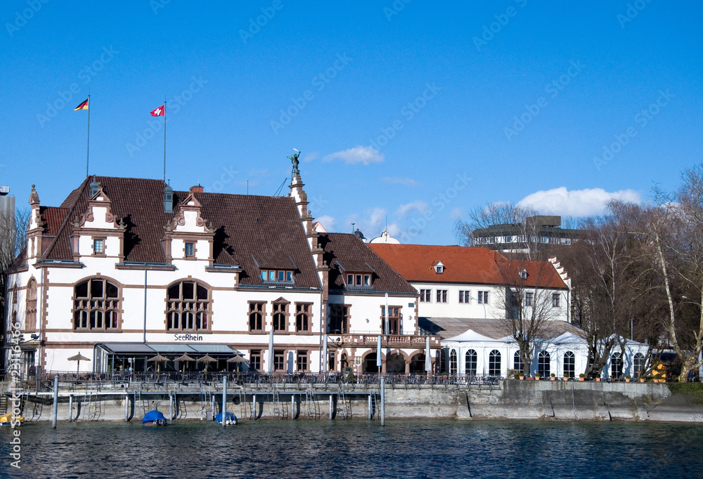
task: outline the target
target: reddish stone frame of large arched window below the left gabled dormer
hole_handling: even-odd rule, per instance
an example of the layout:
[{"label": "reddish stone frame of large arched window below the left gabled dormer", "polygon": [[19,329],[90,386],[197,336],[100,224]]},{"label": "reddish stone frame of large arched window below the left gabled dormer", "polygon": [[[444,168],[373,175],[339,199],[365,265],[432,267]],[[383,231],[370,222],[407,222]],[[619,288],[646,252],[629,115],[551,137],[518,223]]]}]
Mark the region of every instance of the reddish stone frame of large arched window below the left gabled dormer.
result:
[{"label": "reddish stone frame of large arched window below the left gabled dormer", "polygon": [[[92,296],[92,284],[93,281],[103,282],[103,294],[100,298]],[[86,286],[86,296],[78,296],[77,289],[82,284],[87,283]],[[108,284],[112,287],[117,288],[116,296],[108,297]],[[72,323],[73,330],[76,332],[120,332],[122,331],[122,284],[113,280],[110,277],[96,275],[90,277],[84,277],[73,284],[73,295],[71,296],[71,301],[73,303],[72,307]],[[80,303],[79,303],[80,302]],[[98,307],[93,306],[93,303],[99,302]],[[101,313],[101,327],[91,326],[93,322],[92,313],[96,313],[94,316],[97,322],[97,313]],[[81,313],[85,313],[85,316]],[[108,313],[114,314],[113,320],[110,323],[115,324],[115,327],[108,327]],[[77,320],[77,314],[80,314],[80,320]],[[85,324],[85,325],[83,325]]]}]

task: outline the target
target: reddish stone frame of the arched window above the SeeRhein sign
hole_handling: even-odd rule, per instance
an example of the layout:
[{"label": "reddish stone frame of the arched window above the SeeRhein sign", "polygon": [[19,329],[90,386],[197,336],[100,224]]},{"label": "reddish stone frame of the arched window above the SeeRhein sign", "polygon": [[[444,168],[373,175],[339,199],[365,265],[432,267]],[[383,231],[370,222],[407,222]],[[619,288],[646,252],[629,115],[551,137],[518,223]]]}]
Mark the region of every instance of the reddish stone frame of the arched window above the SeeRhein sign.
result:
[{"label": "reddish stone frame of the arched window above the SeeRhein sign", "polygon": [[[185,298],[183,296],[183,284],[193,283],[193,298]],[[170,290],[174,286],[179,286],[179,297],[169,298]],[[207,297],[205,299],[198,297],[198,288],[202,287],[207,292]],[[166,287],[166,317],[165,317],[165,329],[167,332],[209,332],[212,331],[212,287],[205,282],[194,280],[192,277],[181,278],[170,283]],[[174,304],[178,303],[179,306],[174,308]],[[189,304],[190,303],[190,304]],[[173,313],[179,314],[179,324],[178,327],[173,327],[172,317]],[[184,317],[186,313],[191,313],[193,315],[193,327],[183,327]],[[202,327],[202,315],[205,316],[205,327]],[[200,320],[200,327],[198,327],[198,320]]]}]

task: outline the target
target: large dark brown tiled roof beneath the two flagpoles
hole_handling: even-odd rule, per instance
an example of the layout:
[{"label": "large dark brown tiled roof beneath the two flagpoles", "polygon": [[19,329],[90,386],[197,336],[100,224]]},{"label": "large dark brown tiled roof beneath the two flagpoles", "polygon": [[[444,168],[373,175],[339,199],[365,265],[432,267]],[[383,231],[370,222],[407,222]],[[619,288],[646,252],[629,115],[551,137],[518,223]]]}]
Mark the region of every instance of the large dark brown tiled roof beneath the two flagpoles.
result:
[{"label": "large dark brown tiled roof beneath the two flagpoles", "polygon": [[[112,214],[122,220],[124,261],[165,263],[161,240],[164,227],[188,192],[174,191],[174,213],[165,213],[166,184],[143,178],[94,177],[112,202]],[[46,259],[71,259],[70,223],[88,208],[88,186],[93,177],[73,190],[61,207],[51,211],[49,229],[57,236],[44,252]],[[263,285],[259,268],[295,270],[296,287],[321,287],[302,223],[290,197],[195,193],[201,215],[215,230],[214,263],[240,265],[240,284]],[[60,210],[60,211],[59,211]],[[56,226],[59,223],[60,226]]]}]

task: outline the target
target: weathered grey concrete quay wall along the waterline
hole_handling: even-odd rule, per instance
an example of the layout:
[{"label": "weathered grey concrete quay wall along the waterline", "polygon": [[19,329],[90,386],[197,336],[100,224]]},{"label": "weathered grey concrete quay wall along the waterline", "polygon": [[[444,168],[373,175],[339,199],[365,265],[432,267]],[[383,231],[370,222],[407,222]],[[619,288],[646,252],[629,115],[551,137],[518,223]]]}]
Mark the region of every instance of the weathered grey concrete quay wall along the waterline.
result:
[{"label": "weathered grey concrete quay wall along the waterline", "polygon": [[[241,420],[253,419],[380,419],[377,385],[271,386],[228,389],[227,410]],[[143,412],[169,412],[169,395],[153,391],[137,396],[105,392],[90,400],[80,393],[60,393],[58,420],[124,421]],[[212,388],[215,414],[221,410],[221,390]],[[256,407],[254,408],[254,395]],[[174,420],[205,419],[212,400],[195,391],[179,391],[172,401]],[[331,402],[331,405],[330,405]],[[51,420],[51,396],[27,398],[24,415],[30,421]],[[211,412],[212,414],[212,412]],[[690,395],[672,395],[663,383],[596,383],[591,381],[500,381],[494,386],[387,385],[386,419],[542,419],[588,421],[703,422],[703,405]]]}]

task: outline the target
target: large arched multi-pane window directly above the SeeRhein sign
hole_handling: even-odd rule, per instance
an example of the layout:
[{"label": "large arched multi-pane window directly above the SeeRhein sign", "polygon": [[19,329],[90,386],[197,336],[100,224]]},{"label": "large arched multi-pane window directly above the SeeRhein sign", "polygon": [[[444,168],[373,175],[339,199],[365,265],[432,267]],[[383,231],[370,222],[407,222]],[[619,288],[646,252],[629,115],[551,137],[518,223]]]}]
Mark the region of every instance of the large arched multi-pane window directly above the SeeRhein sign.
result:
[{"label": "large arched multi-pane window directly above the SeeRhein sign", "polygon": [[169,286],[166,329],[200,331],[209,329],[209,291],[195,281],[181,281]]}]

